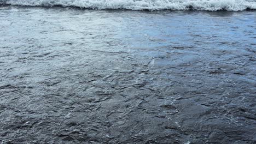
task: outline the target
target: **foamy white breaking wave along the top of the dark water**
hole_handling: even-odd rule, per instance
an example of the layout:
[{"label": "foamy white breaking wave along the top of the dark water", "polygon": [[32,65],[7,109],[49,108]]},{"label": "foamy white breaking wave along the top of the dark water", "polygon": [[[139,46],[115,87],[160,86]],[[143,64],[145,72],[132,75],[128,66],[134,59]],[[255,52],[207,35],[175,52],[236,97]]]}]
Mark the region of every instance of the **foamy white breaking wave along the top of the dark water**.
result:
[{"label": "foamy white breaking wave along the top of the dark water", "polygon": [[130,10],[256,10],[256,0],[0,0],[0,4]]}]

